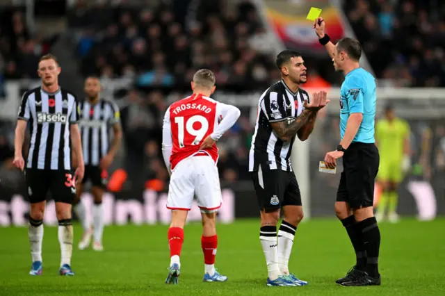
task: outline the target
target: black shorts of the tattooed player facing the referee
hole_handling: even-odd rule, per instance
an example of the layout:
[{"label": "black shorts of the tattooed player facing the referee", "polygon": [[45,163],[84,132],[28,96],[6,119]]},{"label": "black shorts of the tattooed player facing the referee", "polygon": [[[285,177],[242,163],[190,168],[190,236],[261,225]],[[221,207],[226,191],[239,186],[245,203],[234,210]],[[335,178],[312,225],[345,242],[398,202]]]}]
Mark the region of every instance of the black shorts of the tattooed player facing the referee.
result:
[{"label": "black shorts of the tattooed player facing the referee", "polygon": [[257,192],[259,210],[270,213],[282,206],[301,206],[300,187],[295,174],[283,170],[263,169],[252,172],[252,181]]}]

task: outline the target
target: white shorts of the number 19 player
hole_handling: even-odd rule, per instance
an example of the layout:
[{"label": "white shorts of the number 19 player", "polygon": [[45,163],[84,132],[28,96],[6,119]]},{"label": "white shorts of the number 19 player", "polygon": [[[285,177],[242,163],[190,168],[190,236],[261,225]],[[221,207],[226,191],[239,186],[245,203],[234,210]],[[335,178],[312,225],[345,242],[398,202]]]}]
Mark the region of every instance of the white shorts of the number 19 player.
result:
[{"label": "white shorts of the number 19 player", "polygon": [[214,212],[223,203],[218,167],[210,156],[192,156],[176,165],[170,177],[167,208],[190,211],[194,196],[203,213]]}]

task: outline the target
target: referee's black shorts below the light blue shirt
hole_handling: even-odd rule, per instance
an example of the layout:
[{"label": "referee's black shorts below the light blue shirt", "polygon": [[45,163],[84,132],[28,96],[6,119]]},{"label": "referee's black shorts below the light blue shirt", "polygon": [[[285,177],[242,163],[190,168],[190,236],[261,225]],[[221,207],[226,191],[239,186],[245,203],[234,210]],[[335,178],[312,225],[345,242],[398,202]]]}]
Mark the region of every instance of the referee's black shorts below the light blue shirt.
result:
[{"label": "referee's black shorts below the light blue shirt", "polygon": [[379,163],[380,156],[374,144],[353,142],[343,155],[337,202],[348,202],[351,208],[373,206]]}]

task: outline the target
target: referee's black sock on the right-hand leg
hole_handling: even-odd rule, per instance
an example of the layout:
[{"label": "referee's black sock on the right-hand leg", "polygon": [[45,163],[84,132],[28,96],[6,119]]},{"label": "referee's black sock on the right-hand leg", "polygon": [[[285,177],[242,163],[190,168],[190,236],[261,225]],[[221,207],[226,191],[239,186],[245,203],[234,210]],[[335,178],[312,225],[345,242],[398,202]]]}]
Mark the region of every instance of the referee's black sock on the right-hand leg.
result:
[{"label": "referee's black sock on the right-hand leg", "polygon": [[380,230],[375,217],[369,217],[357,223],[362,230],[364,248],[366,249],[366,272],[371,277],[378,277],[378,254],[380,250]]}]

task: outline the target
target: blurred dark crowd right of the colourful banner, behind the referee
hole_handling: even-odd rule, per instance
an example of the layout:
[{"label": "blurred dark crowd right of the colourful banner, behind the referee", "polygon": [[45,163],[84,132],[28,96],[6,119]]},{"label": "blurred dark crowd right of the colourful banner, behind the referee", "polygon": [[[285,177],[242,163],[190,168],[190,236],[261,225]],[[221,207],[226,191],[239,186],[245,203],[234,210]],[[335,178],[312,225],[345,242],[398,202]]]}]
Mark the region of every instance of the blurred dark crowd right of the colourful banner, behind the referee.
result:
[{"label": "blurred dark crowd right of the colourful banner, behind the referee", "polygon": [[343,9],[378,78],[445,86],[444,1],[345,0]]}]

